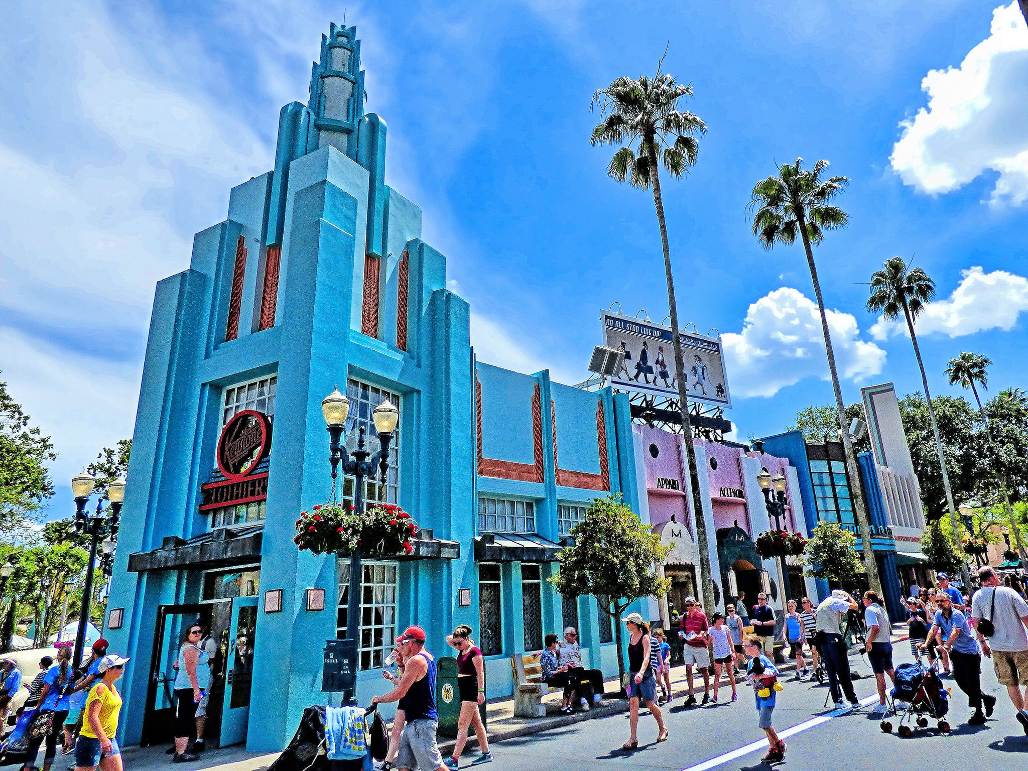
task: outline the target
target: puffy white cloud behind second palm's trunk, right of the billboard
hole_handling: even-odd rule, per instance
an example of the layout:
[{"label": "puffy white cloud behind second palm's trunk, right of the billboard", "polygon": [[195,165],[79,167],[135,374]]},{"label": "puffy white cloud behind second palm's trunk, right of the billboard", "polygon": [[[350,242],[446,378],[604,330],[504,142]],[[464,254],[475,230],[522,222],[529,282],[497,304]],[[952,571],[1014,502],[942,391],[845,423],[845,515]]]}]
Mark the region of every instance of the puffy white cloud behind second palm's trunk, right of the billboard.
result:
[{"label": "puffy white cloud behind second palm's trunk, right of the billboard", "polygon": [[[885,352],[859,338],[856,319],[838,310],[827,315],[840,377],[861,380],[881,372]],[[722,339],[734,396],[769,397],[806,377],[831,379],[817,305],[795,289],[761,297],[747,309],[742,332]]]}]

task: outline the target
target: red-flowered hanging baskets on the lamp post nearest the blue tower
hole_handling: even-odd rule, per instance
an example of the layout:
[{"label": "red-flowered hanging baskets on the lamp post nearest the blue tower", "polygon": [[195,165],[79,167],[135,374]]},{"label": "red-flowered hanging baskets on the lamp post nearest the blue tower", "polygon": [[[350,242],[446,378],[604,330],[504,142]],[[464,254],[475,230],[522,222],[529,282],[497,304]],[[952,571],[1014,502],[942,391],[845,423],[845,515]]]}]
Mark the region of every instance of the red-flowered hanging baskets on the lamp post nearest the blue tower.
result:
[{"label": "red-flowered hanging baskets on the lamp post nearest the blue tower", "polygon": [[410,554],[417,522],[393,504],[372,504],[364,512],[353,506],[325,504],[296,520],[293,543],[315,554],[350,554],[359,547],[367,557]]}]

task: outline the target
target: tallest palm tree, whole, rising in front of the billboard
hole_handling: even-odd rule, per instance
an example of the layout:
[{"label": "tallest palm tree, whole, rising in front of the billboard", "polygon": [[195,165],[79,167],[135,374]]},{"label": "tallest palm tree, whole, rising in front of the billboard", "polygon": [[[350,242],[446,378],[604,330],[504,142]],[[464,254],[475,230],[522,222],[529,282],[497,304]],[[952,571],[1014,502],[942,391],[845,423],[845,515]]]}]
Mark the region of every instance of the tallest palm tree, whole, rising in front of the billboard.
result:
[{"label": "tallest palm tree, whole, rising in front of the billboard", "polygon": [[[600,108],[600,123],[593,128],[593,145],[621,145],[614,153],[607,173],[618,182],[627,181],[640,190],[653,188],[653,203],[660,226],[660,243],[664,250],[664,278],[667,281],[667,304],[671,316],[671,339],[678,340],[678,307],[674,300],[674,282],[671,278],[671,252],[667,244],[667,223],[664,220],[664,200],[660,191],[661,163],[671,177],[682,178],[696,162],[699,153],[697,137],[706,134],[706,124],[696,115],[678,109],[686,97],[693,96],[692,85],[678,83],[661,72],[664,60],[657,65],[657,74],[638,79],[620,77],[605,88],[599,88],[592,98],[590,109]],[[658,156],[660,161],[658,162]],[[715,608],[713,578],[710,575],[710,550],[703,509],[700,506],[700,478],[696,469],[696,453],[692,442],[692,424],[689,405],[685,363],[682,346],[671,345],[674,352],[674,372],[678,383],[678,407],[682,412],[682,434],[685,437],[689,481],[693,492],[693,511],[696,520],[696,542],[699,546],[700,587],[703,604]]]}]

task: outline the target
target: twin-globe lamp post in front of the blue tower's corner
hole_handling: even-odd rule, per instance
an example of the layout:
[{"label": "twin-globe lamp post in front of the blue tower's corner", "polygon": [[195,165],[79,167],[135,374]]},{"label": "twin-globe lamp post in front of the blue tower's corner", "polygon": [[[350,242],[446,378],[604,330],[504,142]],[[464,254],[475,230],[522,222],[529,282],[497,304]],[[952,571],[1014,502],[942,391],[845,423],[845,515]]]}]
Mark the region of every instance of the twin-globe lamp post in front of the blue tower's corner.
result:
[{"label": "twin-globe lamp post in front of the blue tower's corner", "polygon": [[[388,400],[375,407],[372,410],[371,418],[375,426],[375,433],[378,435],[380,449],[375,453],[365,449],[364,427],[361,426],[357,434],[357,448],[347,453],[342,438],[346,430],[346,415],[348,413],[350,400],[339,393],[338,388],[322,400],[322,414],[325,416],[325,423],[328,424],[332,489],[335,490],[335,480],[341,467],[344,476],[355,477],[354,510],[363,511],[364,478],[375,476],[377,467],[378,479],[382,484],[386,483],[386,473],[389,471],[389,445],[393,441],[393,432],[396,431],[400,413],[396,406]],[[359,547],[355,547],[350,555],[350,594],[346,602],[346,637],[351,640],[348,650],[354,657],[355,677],[360,668],[358,651],[361,640],[361,550]],[[357,690],[356,680],[354,683],[354,688],[343,691],[343,703],[353,700]]]}]

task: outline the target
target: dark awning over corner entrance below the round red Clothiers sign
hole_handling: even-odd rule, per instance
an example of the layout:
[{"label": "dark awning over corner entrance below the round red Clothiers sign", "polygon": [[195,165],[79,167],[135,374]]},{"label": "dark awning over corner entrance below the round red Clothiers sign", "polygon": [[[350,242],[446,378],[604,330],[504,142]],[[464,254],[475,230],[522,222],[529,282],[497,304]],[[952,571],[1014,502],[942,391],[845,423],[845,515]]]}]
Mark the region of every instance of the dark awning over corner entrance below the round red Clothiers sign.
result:
[{"label": "dark awning over corner entrance below the round red Clothiers sign", "polygon": [[264,525],[219,527],[188,541],[169,536],[159,549],[128,555],[128,572],[177,571],[183,567],[206,571],[260,562]]}]

